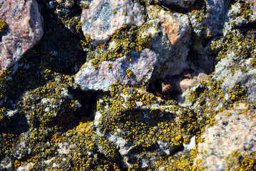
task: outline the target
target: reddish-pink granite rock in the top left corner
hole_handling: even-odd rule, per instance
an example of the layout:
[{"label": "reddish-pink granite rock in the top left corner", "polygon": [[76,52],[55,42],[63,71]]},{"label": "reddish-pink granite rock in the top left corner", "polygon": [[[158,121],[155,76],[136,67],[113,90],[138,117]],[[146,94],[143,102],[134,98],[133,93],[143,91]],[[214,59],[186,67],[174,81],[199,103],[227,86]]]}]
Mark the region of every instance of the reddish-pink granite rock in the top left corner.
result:
[{"label": "reddish-pink granite rock in the top left corner", "polygon": [[7,28],[0,41],[0,73],[14,65],[43,36],[35,0],[0,0],[0,19]]}]

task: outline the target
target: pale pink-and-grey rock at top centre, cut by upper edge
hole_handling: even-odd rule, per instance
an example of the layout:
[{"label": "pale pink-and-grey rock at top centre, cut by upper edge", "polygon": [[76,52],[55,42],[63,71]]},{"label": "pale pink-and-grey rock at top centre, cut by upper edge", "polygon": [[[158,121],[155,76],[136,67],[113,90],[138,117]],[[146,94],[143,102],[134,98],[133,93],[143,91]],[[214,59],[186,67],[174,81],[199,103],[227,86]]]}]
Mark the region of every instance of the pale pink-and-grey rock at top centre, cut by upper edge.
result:
[{"label": "pale pink-and-grey rock at top centre, cut by upper edge", "polygon": [[92,43],[108,41],[124,25],[141,26],[145,22],[144,7],[131,0],[91,0],[81,3],[88,5],[81,15],[83,34],[91,36]]}]

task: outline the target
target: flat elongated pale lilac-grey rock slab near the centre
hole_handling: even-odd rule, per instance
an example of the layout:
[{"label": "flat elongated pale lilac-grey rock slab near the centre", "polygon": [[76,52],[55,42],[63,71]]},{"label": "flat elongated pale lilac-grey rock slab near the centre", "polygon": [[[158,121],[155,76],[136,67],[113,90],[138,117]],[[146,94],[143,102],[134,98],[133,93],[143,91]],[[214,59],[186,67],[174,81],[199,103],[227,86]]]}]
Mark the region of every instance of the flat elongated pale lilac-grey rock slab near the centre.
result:
[{"label": "flat elongated pale lilac-grey rock slab near the centre", "polygon": [[[130,60],[131,59],[131,60]],[[153,71],[158,56],[148,48],[132,56],[123,56],[115,61],[103,61],[98,68],[93,63],[85,63],[76,74],[76,83],[83,90],[110,90],[111,84],[120,81],[122,85],[136,85],[143,81]],[[130,69],[132,75],[128,75]]]}]

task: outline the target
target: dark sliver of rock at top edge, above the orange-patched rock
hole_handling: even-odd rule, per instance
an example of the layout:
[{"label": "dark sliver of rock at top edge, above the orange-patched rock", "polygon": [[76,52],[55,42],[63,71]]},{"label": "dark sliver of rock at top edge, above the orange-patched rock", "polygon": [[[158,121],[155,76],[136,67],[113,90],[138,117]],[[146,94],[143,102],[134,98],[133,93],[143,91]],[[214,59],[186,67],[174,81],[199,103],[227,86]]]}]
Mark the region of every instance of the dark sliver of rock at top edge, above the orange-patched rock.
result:
[{"label": "dark sliver of rock at top edge, above the orange-patched rock", "polygon": [[159,0],[158,4],[163,4],[165,6],[178,6],[184,9],[188,9],[193,5],[195,0]]}]

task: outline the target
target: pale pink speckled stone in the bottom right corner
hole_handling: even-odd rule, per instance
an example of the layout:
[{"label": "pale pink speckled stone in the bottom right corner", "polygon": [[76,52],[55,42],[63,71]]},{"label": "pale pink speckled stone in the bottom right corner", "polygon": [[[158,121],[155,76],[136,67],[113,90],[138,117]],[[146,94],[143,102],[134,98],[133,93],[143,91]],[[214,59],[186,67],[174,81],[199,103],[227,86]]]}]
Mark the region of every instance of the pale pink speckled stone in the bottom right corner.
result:
[{"label": "pale pink speckled stone in the bottom right corner", "polygon": [[[245,105],[240,104],[235,110],[225,110],[215,116],[217,124],[206,128],[202,136],[204,142],[198,143],[195,165],[203,166],[205,170],[227,170],[229,162],[225,158],[233,152],[241,155],[246,152],[250,156],[256,151],[256,118],[252,118],[255,111],[238,114],[244,108]],[[230,116],[225,115],[227,113]],[[197,164],[198,159],[202,160],[200,164]]]}]

